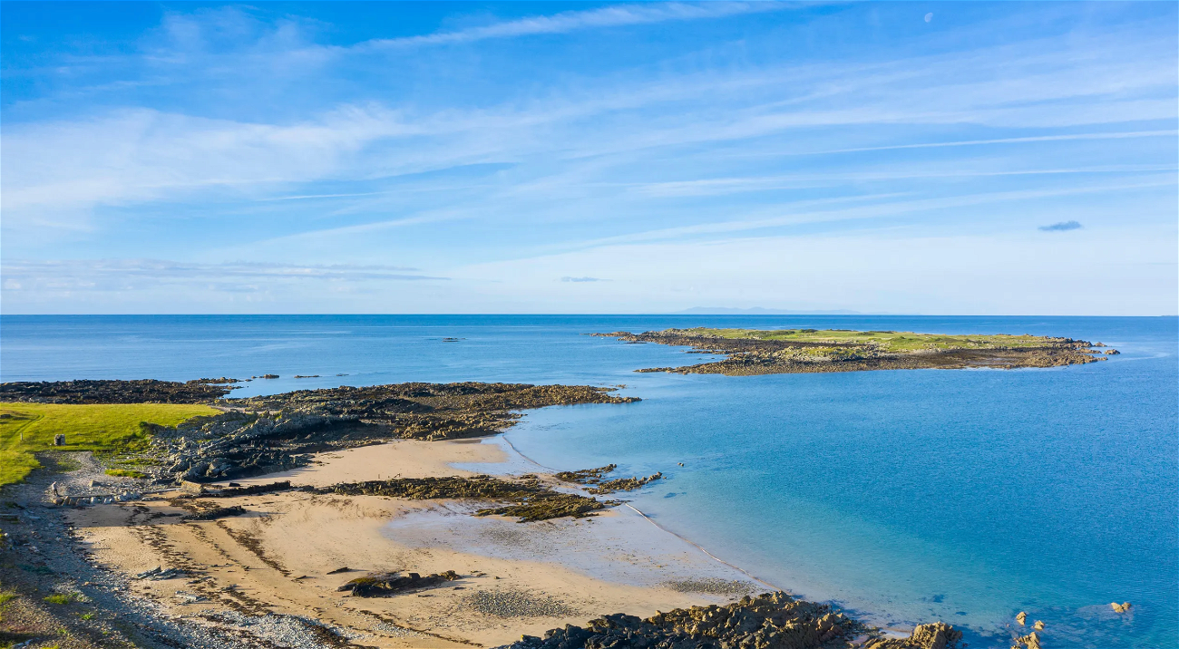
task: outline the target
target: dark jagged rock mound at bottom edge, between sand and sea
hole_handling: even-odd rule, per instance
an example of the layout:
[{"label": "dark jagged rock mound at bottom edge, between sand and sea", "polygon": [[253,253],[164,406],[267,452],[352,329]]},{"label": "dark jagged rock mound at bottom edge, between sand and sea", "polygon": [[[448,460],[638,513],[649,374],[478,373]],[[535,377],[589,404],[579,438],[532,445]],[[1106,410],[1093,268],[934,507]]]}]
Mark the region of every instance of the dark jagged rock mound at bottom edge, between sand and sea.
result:
[{"label": "dark jagged rock mound at bottom edge, between sand and sea", "polygon": [[[692,607],[646,620],[614,614],[585,627],[552,629],[545,637],[523,636],[509,649],[651,647],[667,649],[809,649],[848,637],[863,627],[826,604],[795,600],[785,592],[743,597],[725,607]],[[902,645],[893,645],[900,648]],[[944,645],[943,645],[944,647]],[[924,648],[923,648],[924,649]],[[942,649],[942,648],[938,648]]]}]

